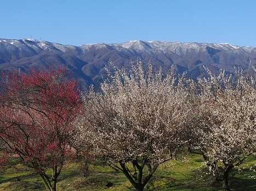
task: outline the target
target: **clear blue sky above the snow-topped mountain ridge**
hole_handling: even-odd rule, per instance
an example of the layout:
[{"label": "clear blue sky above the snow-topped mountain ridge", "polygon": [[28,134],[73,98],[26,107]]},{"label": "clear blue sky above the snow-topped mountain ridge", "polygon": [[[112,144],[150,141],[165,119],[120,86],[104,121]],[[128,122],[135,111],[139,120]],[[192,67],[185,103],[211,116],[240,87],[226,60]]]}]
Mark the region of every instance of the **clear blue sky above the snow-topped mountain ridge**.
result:
[{"label": "clear blue sky above the snow-topped mountain ridge", "polygon": [[164,40],[256,47],[254,0],[1,0],[0,38],[70,45]]}]

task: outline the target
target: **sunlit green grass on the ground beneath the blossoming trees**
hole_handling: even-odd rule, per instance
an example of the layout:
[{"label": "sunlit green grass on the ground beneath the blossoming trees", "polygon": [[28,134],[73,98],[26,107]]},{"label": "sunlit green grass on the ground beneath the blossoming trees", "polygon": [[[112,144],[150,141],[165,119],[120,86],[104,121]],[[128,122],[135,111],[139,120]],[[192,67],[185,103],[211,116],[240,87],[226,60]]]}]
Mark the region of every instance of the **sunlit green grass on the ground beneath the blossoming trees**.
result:
[{"label": "sunlit green grass on the ground beneath the blossoming trees", "polygon": [[[231,190],[256,190],[256,180],[249,178],[253,171],[249,166],[256,164],[256,158],[248,158],[246,163],[230,172]],[[162,164],[155,172],[151,181],[146,185],[145,190],[221,190],[219,183],[207,175],[207,167],[203,165],[202,157],[199,154],[187,154],[179,156],[179,160],[170,160]],[[17,180],[20,181],[17,181]],[[113,186],[107,186],[108,183]],[[38,175],[29,171],[22,165],[16,169],[8,169],[0,175],[0,191],[2,190],[45,190]],[[83,172],[77,163],[70,163],[64,166],[57,183],[57,190],[83,191],[83,190],[134,190],[132,184],[122,174],[115,171],[104,163],[92,162],[89,165],[89,172],[83,177]]]}]

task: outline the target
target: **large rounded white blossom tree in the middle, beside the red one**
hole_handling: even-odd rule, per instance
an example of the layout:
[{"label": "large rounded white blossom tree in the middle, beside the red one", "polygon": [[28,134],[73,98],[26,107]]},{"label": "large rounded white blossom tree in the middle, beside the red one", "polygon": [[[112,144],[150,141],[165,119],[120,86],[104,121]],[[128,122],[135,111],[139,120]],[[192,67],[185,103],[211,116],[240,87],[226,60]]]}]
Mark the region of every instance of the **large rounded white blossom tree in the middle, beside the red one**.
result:
[{"label": "large rounded white blossom tree in the middle, beside the red one", "polygon": [[92,88],[84,96],[86,111],[76,139],[90,143],[136,190],[144,190],[158,166],[184,144],[187,93],[173,70],[164,76],[150,65],[145,74],[140,62],[129,72],[114,69],[102,92]]}]

